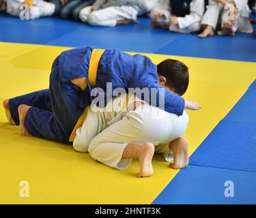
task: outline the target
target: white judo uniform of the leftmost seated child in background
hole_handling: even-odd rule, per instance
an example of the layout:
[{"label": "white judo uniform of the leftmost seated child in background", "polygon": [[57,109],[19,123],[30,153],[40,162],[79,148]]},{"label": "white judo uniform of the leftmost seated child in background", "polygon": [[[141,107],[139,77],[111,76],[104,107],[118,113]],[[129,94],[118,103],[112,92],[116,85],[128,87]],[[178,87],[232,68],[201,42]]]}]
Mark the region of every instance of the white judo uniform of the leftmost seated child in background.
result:
[{"label": "white judo uniform of the leftmost seated child in background", "polygon": [[[25,16],[25,8],[23,8],[24,0],[6,0],[6,12],[12,16]],[[25,16],[29,19],[40,18],[41,16],[51,16],[55,12],[55,5],[43,0],[33,0],[33,5],[29,6],[29,16]]]}]

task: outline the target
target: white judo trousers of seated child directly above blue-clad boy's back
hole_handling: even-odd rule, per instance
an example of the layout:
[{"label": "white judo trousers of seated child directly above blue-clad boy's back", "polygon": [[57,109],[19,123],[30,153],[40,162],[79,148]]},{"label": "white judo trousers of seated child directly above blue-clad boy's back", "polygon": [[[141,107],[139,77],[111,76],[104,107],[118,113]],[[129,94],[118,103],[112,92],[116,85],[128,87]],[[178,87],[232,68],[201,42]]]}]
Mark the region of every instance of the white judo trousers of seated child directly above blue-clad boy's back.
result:
[{"label": "white judo trousers of seated child directly above blue-clad boy's back", "polygon": [[117,20],[136,20],[138,10],[130,5],[112,6],[91,13],[91,6],[84,7],[79,12],[79,18],[89,25],[115,27]]}]

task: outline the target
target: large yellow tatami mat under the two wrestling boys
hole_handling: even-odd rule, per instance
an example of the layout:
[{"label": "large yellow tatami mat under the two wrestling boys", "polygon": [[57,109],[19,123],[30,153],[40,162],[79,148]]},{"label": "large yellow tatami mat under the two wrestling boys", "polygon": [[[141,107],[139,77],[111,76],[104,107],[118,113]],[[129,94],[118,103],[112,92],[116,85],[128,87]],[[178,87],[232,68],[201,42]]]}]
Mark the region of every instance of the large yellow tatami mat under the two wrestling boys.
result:
[{"label": "large yellow tatami mat under the two wrestling boys", "polygon": [[[51,63],[68,48],[0,42],[0,100],[48,87]],[[148,55],[154,63],[169,58]],[[190,154],[242,97],[255,80],[256,63],[170,57],[190,67],[184,97],[203,109],[189,112],[185,136]],[[154,157],[154,176],[137,178],[138,161],[119,171],[96,163],[72,146],[21,136],[0,108],[0,203],[3,204],[150,204],[177,174],[162,157]],[[20,197],[20,181],[29,197]]]}]

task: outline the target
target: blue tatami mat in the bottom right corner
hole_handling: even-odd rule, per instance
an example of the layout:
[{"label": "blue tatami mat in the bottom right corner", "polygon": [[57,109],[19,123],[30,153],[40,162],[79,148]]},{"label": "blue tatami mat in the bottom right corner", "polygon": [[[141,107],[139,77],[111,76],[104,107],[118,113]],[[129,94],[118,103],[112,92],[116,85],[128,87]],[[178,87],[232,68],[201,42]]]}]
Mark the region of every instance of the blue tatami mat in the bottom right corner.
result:
[{"label": "blue tatami mat in the bottom right corner", "polygon": [[[233,182],[233,197],[225,197],[226,181]],[[256,204],[255,196],[255,172],[188,166],[153,204]]]}]

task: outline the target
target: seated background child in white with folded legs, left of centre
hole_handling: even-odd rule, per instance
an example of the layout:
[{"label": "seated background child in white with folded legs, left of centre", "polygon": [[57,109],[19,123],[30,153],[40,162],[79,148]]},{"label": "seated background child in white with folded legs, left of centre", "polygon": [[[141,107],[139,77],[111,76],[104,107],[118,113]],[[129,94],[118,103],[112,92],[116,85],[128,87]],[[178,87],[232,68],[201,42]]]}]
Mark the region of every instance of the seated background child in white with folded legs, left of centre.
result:
[{"label": "seated background child in white with folded legs, left of centre", "polygon": [[115,25],[137,22],[141,0],[96,0],[84,7],[79,18],[89,25],[115,27]]}]

